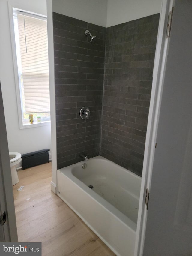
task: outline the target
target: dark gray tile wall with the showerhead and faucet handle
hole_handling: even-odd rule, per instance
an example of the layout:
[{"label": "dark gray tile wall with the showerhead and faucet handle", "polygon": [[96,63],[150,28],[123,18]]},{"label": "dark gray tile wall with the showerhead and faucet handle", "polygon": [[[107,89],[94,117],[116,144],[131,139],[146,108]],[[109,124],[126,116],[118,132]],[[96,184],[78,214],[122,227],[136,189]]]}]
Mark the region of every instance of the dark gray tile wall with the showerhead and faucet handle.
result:
[{"label": "dark gray tile wall with the showerhead and faucet handle", "polygon": [[[85,36],[97,36],[94,44]],[[106,28],[53,13],[57,168],[99,155]],[[89,120],[79,111],[90,107]]]}]

